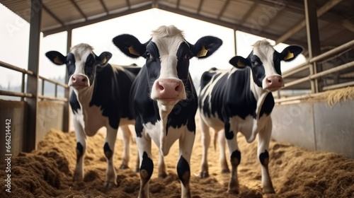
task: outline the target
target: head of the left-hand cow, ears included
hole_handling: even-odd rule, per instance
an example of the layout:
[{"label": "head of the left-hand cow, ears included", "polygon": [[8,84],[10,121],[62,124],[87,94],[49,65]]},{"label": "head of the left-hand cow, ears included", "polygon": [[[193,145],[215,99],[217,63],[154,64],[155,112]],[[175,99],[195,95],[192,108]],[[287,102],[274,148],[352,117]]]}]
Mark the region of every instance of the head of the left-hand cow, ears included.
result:
[{"label": "head of the left-hand cow, ears included", "polygon": [[112,57],[110,52],[102,52],[97,57],[92,50],[93,48],[90,45],[81,43],[72,47],[66,57],[57,51],[47,52],[45,56],[54,64],[66,64],[69,75],[68,86],[81,90],[93,84],[96,67],[105,66],[110,57]]}]

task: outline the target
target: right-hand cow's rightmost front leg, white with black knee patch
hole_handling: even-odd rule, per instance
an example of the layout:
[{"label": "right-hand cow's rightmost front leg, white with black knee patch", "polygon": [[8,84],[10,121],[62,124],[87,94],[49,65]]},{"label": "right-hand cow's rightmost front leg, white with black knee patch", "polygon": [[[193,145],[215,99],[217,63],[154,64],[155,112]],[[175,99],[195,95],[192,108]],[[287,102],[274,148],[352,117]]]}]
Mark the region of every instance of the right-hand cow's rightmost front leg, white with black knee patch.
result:
[{"label": "right-hand cow's rightmost front leg, white with black knee patch", "polygon": [[261,163],[262,170],[262,187],[265,193],[275,193],[272,180],[270,180],[268,163],[269,163],[269,142],[272,133],[272,120],[269,117],[268,123],[261,132],[258,133],[258,160]]}]

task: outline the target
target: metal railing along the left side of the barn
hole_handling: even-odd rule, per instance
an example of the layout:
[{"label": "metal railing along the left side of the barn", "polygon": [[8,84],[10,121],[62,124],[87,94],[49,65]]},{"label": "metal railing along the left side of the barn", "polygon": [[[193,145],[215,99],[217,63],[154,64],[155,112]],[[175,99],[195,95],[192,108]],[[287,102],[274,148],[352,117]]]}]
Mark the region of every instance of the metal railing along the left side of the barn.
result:
[{"label": "metal railing along the left side of the barn", "polygon": [[[24,98],[33,98],[34,95],[32,93],[25,93],[25,75],[31,75],[34,76],[35,74],[33,73],[33,71],[29,71],[26,69],[22,69],[19,68],[17,66],[13,66],[11,64],[7,64],[6,62],[1,62],[0,61],[0,66],[7,68],[7,69],[11,69],[13,71],[18,71],[22,73],[22,80],[21,80],[21,92],[16,92],[16,91],[4,91],[4,90],[0,90],[0,95],[8,95],[8,96],[15,96],[15,97],[20,97],[21,101],[24,100]],[[39,78],[42,80],[42,90],[41,90],[41,95],[38,95],[38,98],[40,98],[41,100],[57,100],[57,101],[63,101],[63,102],[67,102],[68,98],[59,98],[57,97],[57,88],[58,86],[63,87],[64,89],[68,89],[69,86],[67,86],[67,84],[64,83],[59,83],[56,81],[52,81],[49,78],[45,78],[42,76],[39,76]],[[55,85],[55,96],[46,96],[44,95],[44,88],[45,88],[45,81],[49,82],[49,83],[53,83]]]}]

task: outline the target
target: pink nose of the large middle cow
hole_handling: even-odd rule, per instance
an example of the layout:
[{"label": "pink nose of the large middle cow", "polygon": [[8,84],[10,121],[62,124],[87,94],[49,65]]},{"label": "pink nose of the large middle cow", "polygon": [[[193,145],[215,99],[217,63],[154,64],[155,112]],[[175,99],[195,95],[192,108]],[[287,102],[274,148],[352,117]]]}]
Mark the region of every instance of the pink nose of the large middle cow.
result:
[{"label": "pink nose of the large middle cow", "polygon": [[183,95],[181,93],[184,91],[183,88],[183,82],[180,79],[164,78],[156,80],[152,99],[184,99],[183,97],[181,98]]}]

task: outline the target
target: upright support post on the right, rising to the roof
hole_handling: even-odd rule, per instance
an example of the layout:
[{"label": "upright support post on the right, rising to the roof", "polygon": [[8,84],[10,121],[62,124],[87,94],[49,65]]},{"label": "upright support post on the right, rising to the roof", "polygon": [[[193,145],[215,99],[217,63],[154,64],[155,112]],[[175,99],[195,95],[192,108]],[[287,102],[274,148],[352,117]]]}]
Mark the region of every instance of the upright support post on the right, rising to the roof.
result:
[{"label": "upright support post on the right, rising to the roof", "polygon": [[[317,22],[316,14],[316,1],[304,0],[305,19],[306,19],[306,31],[307,31],[307,43],[309,48],[309,59],[321,54],[319,43],[319,25]],[[316,74],[322,71],[321,66],[316,62],[312,63],[309,67],[310,75]],[[318,93],[322,90],[323,83],[321,79],[314,79],[310,81],[311,92]]]}]

